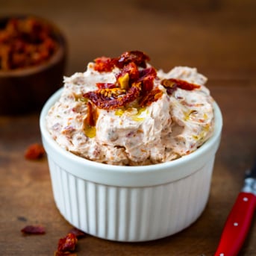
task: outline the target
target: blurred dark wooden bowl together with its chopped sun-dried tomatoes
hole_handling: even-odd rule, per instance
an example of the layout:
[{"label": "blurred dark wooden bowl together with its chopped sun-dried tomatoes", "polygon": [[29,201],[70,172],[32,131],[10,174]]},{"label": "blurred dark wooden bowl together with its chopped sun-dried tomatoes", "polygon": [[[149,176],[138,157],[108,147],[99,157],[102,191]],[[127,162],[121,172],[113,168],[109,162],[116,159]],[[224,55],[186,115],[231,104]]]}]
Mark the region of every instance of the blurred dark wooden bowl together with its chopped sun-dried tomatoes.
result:
[{"label": "blurred dark wooden bowl together with its chopped sun-dried tomatoes", "polygon": [[38,16],[0,18],[0,114],[40,110],[61,86],[66,38]]}]

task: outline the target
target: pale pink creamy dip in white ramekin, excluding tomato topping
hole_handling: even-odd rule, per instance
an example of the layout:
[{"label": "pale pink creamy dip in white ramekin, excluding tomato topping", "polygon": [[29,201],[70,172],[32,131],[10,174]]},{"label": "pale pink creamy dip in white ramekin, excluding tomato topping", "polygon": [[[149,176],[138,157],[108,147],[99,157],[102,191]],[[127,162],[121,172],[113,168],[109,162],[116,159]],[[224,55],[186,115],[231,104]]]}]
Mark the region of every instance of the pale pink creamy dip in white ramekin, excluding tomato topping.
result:
[{"label": "pale pink creamy dip in white ramekin, excluding tomato topping", "polygon": [[[205,87],[207,78],[184,66],[167,73],[156,71],[152,83],[153,89],[160,90],[160,97],[145,106],[137,99],[110,109],[90,103],[95,123],[88,124],[91,100],[84,95],[99,90],[99,83],[115,84],[122,71],[117,66],[110,71],[95,67],[92,62],[86,72],[65,77],[60,99],[46,116],[51,137],[63,149],[100,163],[148,165],[190,154],[212,135],[213,99]],[[144,68],[150,67],[146,63]],[[175,87],[169,93],[161,81],[170,78],[197,86],[193,90]]]}]

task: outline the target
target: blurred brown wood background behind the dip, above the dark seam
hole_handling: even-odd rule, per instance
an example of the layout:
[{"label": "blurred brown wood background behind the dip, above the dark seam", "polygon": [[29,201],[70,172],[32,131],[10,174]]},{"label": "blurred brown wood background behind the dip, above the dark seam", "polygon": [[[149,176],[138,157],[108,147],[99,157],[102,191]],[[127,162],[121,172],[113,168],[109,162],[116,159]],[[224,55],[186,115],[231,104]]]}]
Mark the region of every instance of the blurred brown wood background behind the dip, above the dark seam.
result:
[{"label": "blurred brown wood background behind the dip, above the dark seam", "polygon": [[[102,55],[145,51],[157,68],[196,66],[211,79],[255,78],[255,0],[0,0],[0,15],[49,19],[69,44],[66,75]],[[237,65],[239,63],[239,66]]]}]

